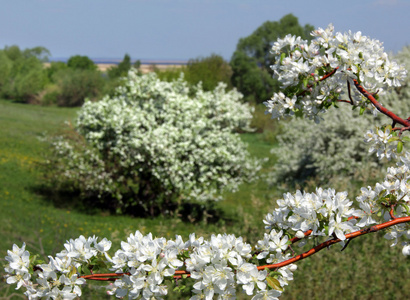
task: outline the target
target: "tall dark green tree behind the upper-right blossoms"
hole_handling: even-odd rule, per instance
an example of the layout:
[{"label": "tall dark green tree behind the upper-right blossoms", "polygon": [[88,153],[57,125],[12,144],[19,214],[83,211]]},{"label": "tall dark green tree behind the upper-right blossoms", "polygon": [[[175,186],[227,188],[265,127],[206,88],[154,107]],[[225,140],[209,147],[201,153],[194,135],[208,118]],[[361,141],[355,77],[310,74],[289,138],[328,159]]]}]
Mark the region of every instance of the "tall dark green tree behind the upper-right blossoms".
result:
[{"label": "tall dark green tree behind the upper-right blossoms", "polygon": [[232,85],[244,94],[245,99],[261,103],[278,90],[278,83],[272,78],[270,65],[273,55],[270,48],[278,38],[287,34],[311,39],[313,26],[301,26],[292,14],[277,21],[266,21],[250,36],[241,38],[231,58]]}]

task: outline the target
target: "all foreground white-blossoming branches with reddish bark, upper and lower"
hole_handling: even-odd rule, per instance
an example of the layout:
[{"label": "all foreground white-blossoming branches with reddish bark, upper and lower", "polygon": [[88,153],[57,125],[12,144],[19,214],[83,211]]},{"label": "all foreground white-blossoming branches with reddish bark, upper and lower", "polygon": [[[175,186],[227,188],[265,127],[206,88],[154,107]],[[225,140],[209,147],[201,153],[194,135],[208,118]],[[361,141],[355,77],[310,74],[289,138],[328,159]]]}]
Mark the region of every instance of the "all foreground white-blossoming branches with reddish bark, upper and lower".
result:
[{"label": "all foreground white-blossoming branches with reddish bark, upper and lower", "polygon": [[[178,288],[192,280],[191,299],[234,299],[239,287],[252,299],[275,300],[293,279],[296,262],[333,244],[345,248],[354,238],[386,229],[385,238],[393,246],[401,242],[403,254],[410,255],[410,153],[403,151],[410,121],[382,106],[374,90],[397,86],[406,72],[389,61],[380,42],[360,33],[334,33],[329,26],[313,35],[311,44],[293,36],[275,43],[274,68],[283,90],[266,105],[274,117],[296,114],[319,122],[330,106],[347,102],[363,109],[372,105],[392,120],[365,136],[377,157],[395,158],[397,165],[388,168],[382,182],[363,187],[356,206],[347,192],[331,188],[286,193],[266,215],[268,231],[253,246],[227,234],[210,240],[192,234],[184,241],[137,231],[114,256],[108,254],[108,240],[81,236],[67,241],[65,250],[44,264],[30,259],[24,244],[14,245],[6,257],[7,282],[24,287],[30,299],[72,299],[81,294],[84,280],[115,279],[110,294],[118,298],[161,299],[168,291],[166,279],[171,279],[178,280]],[[344,85],[348,100],[341,98]],[[292,244],[313,238],[319,244],[312,249],[290,253]],[[99,267],[113,273],[92,272]]]}]

